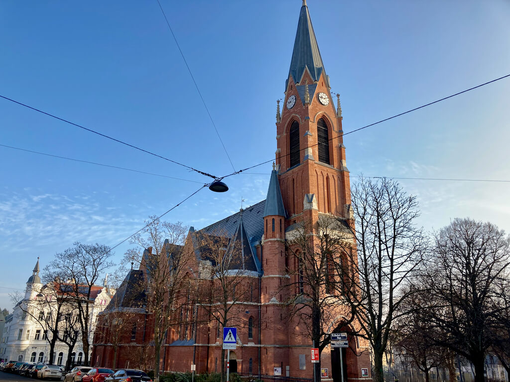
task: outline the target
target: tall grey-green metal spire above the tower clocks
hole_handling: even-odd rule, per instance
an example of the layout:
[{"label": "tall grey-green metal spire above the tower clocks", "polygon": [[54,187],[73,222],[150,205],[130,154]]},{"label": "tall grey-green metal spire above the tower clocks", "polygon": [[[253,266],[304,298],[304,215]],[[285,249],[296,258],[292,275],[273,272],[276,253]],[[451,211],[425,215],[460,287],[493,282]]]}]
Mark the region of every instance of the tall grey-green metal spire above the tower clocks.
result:
[{"label": "tall grey-green metal spire above the tower clocks", "polygon": [[[320,57],[319,46],[315,39],[314,28],[312,26],[312,20],[310,19],[310,13],[308,12],[307,3],[303,1],[289,70],[289,75],[292,75],[295,84],[299,83],[307,67],[312,79],[318,81],[321,73],[324,71],[324,66],[322,64],[322,58]],[[286,89],[287,85],[288,79],[285,84]]]}]

